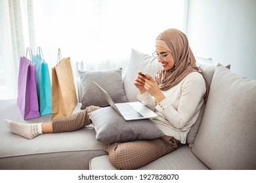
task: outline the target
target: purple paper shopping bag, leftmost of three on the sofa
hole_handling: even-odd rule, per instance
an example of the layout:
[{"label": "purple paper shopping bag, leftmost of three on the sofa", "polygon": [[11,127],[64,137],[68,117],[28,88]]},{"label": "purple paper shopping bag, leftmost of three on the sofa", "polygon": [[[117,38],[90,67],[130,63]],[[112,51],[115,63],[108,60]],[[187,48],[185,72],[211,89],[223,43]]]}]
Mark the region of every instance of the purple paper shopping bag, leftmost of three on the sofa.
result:
[{"label": "purple paper shopping bag, leftmost of three on the sofa", "polygon": [[[28,59],[28,52],[30,59]],[[24,120],[40,117],[35,82],[35,63],[32,63],[32,50],[27,48],[26,57],[20,58],[18,73],[17,104]]]}]

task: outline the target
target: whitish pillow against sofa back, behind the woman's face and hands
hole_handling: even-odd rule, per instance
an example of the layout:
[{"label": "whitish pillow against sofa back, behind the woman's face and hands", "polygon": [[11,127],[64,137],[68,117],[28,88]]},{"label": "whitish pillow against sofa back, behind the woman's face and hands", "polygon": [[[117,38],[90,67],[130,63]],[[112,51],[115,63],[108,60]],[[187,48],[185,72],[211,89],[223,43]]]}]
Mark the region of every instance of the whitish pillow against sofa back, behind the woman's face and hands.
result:
[{"label": "whitish pillow against sofa back, behind the woman's face and hands", "polygon": [[158,70],[161,69],[161,64],[158,60],[151,55],[144,54],[137,50],[131,50],[131,56],[123,76],[123,88],[125,89],[125,95],[129,102],[138,101],[137,95],[139,90],[133,84],[138,71],[148,73],[153,78]]}]

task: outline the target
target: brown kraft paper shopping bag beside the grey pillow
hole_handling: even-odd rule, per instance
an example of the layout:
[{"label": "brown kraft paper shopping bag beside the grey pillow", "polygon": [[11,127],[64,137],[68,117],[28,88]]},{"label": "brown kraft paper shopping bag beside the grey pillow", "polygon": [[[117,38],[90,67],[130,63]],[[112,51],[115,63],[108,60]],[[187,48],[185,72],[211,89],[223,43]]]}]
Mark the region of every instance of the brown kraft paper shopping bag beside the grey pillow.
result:
[{"label": "brown kraft paper shopping bag beside the grey pillow", "polygon": [[72,114],[76,105],[77,96],[70,58],[62,59],[58,49],[58,63],[52,69],[52,120]]}]

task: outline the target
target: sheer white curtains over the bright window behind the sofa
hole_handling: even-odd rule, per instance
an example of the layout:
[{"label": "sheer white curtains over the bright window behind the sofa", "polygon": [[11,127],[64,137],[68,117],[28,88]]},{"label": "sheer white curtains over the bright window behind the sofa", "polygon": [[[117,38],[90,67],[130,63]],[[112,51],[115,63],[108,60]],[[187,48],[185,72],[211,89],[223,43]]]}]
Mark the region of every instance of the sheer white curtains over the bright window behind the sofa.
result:
[{"label": "sheer white curtains over the bright window behind the sofa", "polygon": [[158,33],[185,31],[186,1],[0,0],[0,99],[16,98],[26,47],[36,54],[41,46],[49,69],[60,48],[75,77],[79,69],[125,69],[131,48],[151,54]]}]

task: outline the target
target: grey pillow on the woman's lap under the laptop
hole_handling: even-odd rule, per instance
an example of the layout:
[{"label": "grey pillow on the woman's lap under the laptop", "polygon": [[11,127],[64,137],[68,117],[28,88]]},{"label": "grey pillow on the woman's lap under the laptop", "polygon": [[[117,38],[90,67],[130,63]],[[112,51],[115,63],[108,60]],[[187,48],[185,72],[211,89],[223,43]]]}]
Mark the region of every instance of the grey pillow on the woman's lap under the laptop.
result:
[{"label": "grey pillow on the woman's lap under the laptop", "polygon": [[150,119],[127,122],[112,107],[95,110],[89,117],[95,124],[96,140],[100,142],[129,142],[164,135]]}]

